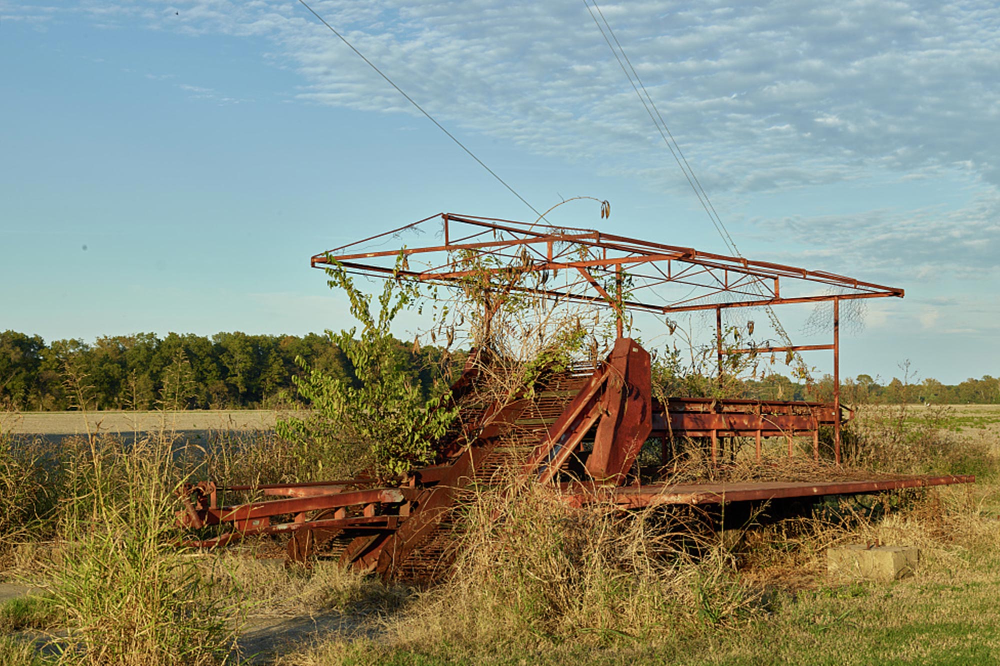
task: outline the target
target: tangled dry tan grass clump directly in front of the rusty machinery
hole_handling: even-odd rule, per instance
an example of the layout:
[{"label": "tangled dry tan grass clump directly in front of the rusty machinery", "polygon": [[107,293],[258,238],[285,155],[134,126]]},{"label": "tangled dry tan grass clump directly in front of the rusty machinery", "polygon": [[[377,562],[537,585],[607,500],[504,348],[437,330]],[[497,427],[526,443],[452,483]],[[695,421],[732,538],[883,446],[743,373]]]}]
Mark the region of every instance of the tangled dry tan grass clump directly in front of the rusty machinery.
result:
[{"label": "tangled dry tan grass clump directly in front of the rusty machinery", "polygon": [[462,517],[447,581],[391,626],[395,645],[655,641],[678,623],[721,625],[753,612],[736,560],[689,511],[577,509],[550,488],[484,491]]}]

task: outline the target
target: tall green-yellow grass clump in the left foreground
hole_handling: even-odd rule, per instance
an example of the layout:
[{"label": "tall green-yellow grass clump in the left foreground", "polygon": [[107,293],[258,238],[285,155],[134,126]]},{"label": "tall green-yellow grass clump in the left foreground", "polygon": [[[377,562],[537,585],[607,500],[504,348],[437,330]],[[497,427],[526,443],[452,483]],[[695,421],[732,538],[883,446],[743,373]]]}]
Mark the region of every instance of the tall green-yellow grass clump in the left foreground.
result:
[{"label": "tall green-yellow grass clump in the left foreground", "polygon": [[176,547],[184,480],[169,438],[78,439],[68,452],[60,547],[43,588],[64,663],[208,665],[229,659],[235,606]]}]

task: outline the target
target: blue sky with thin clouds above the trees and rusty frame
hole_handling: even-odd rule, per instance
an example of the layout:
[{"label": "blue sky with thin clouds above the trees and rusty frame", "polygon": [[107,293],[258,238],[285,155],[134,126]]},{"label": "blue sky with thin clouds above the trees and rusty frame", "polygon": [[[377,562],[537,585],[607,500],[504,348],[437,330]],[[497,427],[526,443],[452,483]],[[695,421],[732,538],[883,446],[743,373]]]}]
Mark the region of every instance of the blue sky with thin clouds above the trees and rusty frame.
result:
[{"label": "blue sky with thin clouds above the trees and rusty frame", "polygon": [[[553,221],[724,250],[582,2],[312,6],[536,208],[612,202]],[[906,289],[842,374],[1000,374],[995,3],[601,9],[744,255]],[[310,255],[533,217],[298,3],[0,0],[0,62],[0,329],[340,329]]]}]

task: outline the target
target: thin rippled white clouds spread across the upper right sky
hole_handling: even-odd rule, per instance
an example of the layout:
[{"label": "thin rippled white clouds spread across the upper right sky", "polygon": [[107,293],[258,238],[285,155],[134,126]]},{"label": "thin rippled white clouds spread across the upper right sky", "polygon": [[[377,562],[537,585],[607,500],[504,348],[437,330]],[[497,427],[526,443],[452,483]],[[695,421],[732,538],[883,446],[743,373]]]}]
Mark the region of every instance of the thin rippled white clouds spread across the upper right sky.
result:
[{"label": "thin rippled white clouds spread across the upper right sky", "polygon": [[[687,187],[582,3],[318,0],[312,6],[460,135],[597,161],[651,189]],[[962,206],[876,204],[859,214],[761,226],[797,241],[806,248],[802,256],[876,262],[880,270],[916,277],[942,267],[967,276],[995,272],[996,3],[650,0],[602,10],[717,201],[885,174],[935,183],[964,169],[969,195]],[[299,103],[416,115],[296,2],[86,0],[78,11],[102,24],[262,39],[271,45],[262,60],[301,77],[292,97]],[[239,101],[180,88],[206,100]]]}]

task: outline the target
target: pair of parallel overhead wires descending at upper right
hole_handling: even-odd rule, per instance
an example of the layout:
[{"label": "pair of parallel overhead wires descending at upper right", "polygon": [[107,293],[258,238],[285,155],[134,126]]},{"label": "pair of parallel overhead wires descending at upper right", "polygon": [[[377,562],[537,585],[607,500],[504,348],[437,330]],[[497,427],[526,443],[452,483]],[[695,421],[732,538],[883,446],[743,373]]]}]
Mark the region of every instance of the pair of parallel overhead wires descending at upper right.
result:
[{"label": "pair of parallel overhead wires descending at upper right", "polygon": [[[625,49],[622,47],[621,42],[618,41],[618,37],[615,35],[614,30],[611,28],[611,24],[608,22],[607,18],[605,18],[604,12],[601,11],[601,8],[598,6],[596,0],[590,0],[590,2],[588,2],[588,0],[583,0],[583,4],[587,8],[587,12],[590,14],[590,17],[594,20],[594,24],[600,31],[601,36],[608,45],[608,48],[611,49],[611,53],[615,56],[615,60],[618,61],[618,65],[621,67],[625,77],[632,85],[632,89],[635,90],[636,95],[639,97],[639,101],[642,102],[643,107],[646,109],[646,113],[649,114],[650,120],[653,121],[653,125],[663,138],[664,143],[667,144],[667,148],[670,149],[670,154],[673,155],[674,160],[677,162],[677,166],[680,167],[681,171],[684,173],[684,177],[688,181],[688,184],[691,186],[691,189],[694,190],[695,196],[698,197],[698,201],[701,203],[702,208],[704,208],[705,212],[708,214],[708,218],[711,220],[712,226],[715,227],[715,230],[722,238],[723,244],[725,244],[725,246],[735,256],[742,258],[743,255],[736,247],[736,241],[733,240],[732,235],[730,235],[725,223],[723,223],[718,211],[716,211],[715,206],[712,204],[712,200],[709,198],[708,193],[705,191],[705,188],[702,187],[701,181],[698,180],[698,176],[695,175],[694,169],[688,162],[687,157],[684,156],[684,152],[681,150],[680,144],[677,143],[677,139],[674,138],[674,135],[670,132],[670,128],[667,127],[667,123],[663,119],[663,115],[656,107],[656,103],[653,101],[653,98],[646,89],[646,86],[642,83],[642,78],[640,78],[639,73],[632,65],[632,61],[629,60],[628,54],[625,53]],[[593,9],[591,9],[591,4],[594,6]],[[601,21],[604,22],[604,26],[601,25],[601,21],[598,21],[597,16],[594,15],[595,9],[597,10],[597,14],[600,15]],[[605,34],[605,28],[607,28],[607,34]],[[608,35],[610,35],[610,39]],[[614,40],[615,45],[617,45],[617,49],[611,44],[611,40]],[[619,53],[621,56],[619,56]],[[625,60],[624,63],[622,62],[623,58]],[[625,63],[628,63],[628,69],[626,69]],[[634,81],[633,77],[635,79]],[[642,89],[642,92],[639,92],[640,88]],[[645,95],[645,97],[643,97],[643,95]],[[763,295],[763,290],[760,288],[760,285],[757,282],[752,284],[754,289]],[[781,325],[778,315],[774,312],[774,308],[767,305],[764,306],[764,309],[767,312],[767,317],[778,336],[781,337],[787,346],[793,346],[791,338],[789,337],[787,331],[785,331],[784,326]],[[809,368],[802,359],[802,355],[799,354],[799,352],[795,352],[794,358],[796,360],[796,365],[802,373],[808,377]]]}]

